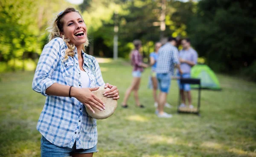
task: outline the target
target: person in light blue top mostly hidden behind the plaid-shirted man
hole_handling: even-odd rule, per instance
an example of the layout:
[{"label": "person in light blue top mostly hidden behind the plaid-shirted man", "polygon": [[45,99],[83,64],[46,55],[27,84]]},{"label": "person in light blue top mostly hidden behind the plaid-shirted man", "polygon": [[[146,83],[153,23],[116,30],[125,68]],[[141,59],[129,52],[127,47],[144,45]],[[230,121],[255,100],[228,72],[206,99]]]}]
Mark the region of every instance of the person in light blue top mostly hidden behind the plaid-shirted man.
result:
[{"label": "person in light blue top mostly hidden behind the plaid-shirted man", "polygon": [[[150,53],[150,65],[151,65],[151,75],[150,75],[150,85],[153,85],[153,97],[154,97],[154,107],[157,108],[157,88],[158,88],[158,82],[157,82],[157,58],[158,58],[158,50],[161,48],[162,44],[160,42],[155,43],[154,52]],[[151,85],[151,87],[152,87]],[[165,107],[171,108],[172,106],[168,103],[165,104]],[[158,109],[157,109],[158,110]]]}]

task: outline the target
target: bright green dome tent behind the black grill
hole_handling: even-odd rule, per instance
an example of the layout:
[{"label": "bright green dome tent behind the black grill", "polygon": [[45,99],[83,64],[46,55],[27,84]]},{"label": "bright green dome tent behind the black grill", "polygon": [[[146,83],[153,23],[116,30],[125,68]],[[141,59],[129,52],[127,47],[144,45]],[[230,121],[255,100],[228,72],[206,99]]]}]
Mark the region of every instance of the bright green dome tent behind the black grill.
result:
[{"label": "bright green dome tent behind the black grill", "polygon": [[[210,90],[221,90],[219,81],[215,73],[204,64],[197,64],[191,69],[192,78],[201,78],[201,88]],[[191,88],[198,88],[198,85],[193,84]]]}]

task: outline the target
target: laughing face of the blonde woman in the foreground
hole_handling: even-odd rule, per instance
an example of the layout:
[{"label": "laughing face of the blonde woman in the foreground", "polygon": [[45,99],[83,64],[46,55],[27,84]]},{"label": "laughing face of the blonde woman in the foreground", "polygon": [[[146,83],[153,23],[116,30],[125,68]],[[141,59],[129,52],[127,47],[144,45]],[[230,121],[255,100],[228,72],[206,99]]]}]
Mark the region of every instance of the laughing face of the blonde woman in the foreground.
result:
[{"label": "laughing face of the blonde woman in the foreground", "polygon": [[67,13],[63,18],[63,32],[65,38],[70,39],[70,42],[76,47],[82,45],[87,40],[87,27],[84,20],[77,12]]}]

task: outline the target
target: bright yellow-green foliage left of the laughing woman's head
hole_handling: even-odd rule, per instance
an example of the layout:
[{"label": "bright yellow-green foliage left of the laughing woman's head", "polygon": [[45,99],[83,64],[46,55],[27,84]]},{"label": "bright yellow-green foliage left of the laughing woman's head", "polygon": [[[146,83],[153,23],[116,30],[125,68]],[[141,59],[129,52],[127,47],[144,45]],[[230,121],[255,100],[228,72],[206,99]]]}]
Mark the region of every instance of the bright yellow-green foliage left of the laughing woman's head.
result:
[{"label": "bright yellow-green foliage left of the laughing woman's head", "polygon": [[[63,4],[61,7],[58,5],[60,2]],[[53,13],[67,6],[69,3],[62,0],[48,0],[47,3],[43,0],[1,0],[0,62],[35,59],[46,42],[47,22],[52,19]],[[6,65],[15,70],[15,64]]]}]

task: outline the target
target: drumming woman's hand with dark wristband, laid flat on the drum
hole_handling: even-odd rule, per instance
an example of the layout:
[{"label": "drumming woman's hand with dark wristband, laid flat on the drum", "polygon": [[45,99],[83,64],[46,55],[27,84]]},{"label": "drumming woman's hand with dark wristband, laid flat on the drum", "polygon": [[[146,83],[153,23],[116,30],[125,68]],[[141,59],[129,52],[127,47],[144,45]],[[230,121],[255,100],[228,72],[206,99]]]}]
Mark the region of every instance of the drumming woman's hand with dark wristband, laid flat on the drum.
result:
[{"label": "drumming woman's hand with dark wristband, laid flat on the drum", "polygon": [[[96,109],[103,110],[105,109],[105,104],[92,93],[92,91],[98,90],[99,87],[95,88],[74,88],[74,97],[83,103],[88,109],[93,113],[95,112],[92,107]],[[72,89],[73,90],[73,89]]]}]

